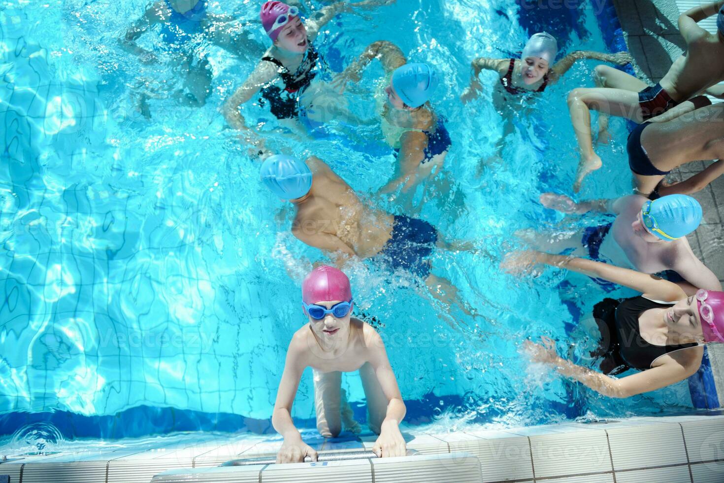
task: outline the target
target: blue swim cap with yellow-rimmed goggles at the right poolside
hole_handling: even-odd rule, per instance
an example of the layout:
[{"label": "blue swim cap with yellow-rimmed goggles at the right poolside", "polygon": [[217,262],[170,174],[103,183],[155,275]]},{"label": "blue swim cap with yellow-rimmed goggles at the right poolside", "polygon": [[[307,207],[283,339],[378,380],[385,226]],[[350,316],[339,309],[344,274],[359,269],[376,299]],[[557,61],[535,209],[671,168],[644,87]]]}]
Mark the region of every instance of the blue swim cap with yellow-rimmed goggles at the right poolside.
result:
[{"label": "blue swim cap with yellow-rimmed goggles at the right poolside", "polygon": [[[644,203],[644,207],[647,204]],[[658,225],[658,230],[652,230],[654,235],[666,241],[677,240],[699,227],[702,222],[702,205],[691,196],[662,196],[651,202],[649,216]]]}]

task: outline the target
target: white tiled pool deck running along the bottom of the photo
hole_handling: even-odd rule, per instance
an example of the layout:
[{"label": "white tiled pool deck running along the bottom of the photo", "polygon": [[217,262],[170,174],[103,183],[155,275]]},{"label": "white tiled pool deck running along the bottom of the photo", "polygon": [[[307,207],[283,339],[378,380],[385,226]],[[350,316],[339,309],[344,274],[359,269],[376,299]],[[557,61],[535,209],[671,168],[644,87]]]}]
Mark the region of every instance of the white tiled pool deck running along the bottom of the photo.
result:
[{"label": "white tiled pool deck running along the bottom of the photo", "polygon": [[[475,456],[484,483],[724,482],[721,415],[518,429],[470,427],[446,434],[404,427],[403,434],[408,448],[425,455],[465,452]],[[315,446],[318,450],[324,450],[323,444],[335,449],[369,449],[374,440],[372,435],[337,444],[317,440]],[[237,458],[275,455],[282,441],[277,435],[189,433],[143,445],[133,440],[119,443],[125,447],[88,451],[78,445],[56,455],[22,456],[20,461],[1,463],[0,475],[9,474],[12,483],[148,483],[154,474],[168,469],[204,468]],[[271,466],[259,466],[254,481],[271,481],[274,472]],[[374,474],[363,481],[381,481],[382,476],[378,474],[380,479],[375,480]],[[434,481],[455,482],[450,475],[436,476]]]}]

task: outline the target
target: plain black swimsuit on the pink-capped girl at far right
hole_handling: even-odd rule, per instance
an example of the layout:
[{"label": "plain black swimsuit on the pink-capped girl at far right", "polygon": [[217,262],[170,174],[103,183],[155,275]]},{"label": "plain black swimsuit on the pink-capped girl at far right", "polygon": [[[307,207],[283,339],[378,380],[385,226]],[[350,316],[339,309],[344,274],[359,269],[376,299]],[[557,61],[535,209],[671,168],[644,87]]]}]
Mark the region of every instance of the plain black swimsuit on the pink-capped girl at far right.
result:
[{"label": "plain black swimsuit on the pink-capped girl at far right", "polygon": [[[651,369],[651,364],[657,358],[672,353],[675,350],[696,347],[699,344],[681,345],[653,345],[641,337],[639,317],[645,311],[652,308],[670,308],[673,304],[658,303],[649,301],[648,298],[633,297],[623,301],[615,301],[607,298],[597,303],[594,307],[594,317],[603,322],[599,327],[606,327],[610,334],[610,345],[606,356],[608,359],[607,368],[604,363],[601,369],[607,374],[620,374],[627,369],[639,369],[641,371]],[[604,335],[604,340],[607,337]]]}]

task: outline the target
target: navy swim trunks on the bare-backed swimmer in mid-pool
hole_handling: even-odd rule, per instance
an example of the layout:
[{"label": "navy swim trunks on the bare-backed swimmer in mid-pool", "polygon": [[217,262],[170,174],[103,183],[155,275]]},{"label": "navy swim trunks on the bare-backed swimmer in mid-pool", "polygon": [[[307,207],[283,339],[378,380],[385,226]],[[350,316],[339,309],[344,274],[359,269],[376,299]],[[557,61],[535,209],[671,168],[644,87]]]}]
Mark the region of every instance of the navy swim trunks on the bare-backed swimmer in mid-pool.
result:
[{"label": "navy swim trunks on the bare-backed swimmer in mid-pool", "polygon": [[437,230],[421,219],[395,216],[392,237],[375,257],[390,270],[404,269],[426,279],[432,269],[427,257],[437,242]]}]

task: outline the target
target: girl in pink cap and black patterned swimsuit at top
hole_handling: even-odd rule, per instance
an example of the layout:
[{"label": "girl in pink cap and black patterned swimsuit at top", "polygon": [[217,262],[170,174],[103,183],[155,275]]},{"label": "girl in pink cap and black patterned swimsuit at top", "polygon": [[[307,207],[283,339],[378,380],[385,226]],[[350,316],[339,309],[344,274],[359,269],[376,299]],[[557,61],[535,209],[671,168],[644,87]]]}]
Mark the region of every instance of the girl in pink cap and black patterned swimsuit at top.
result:
[{"label": "girl in pink cap and black patterned swimsuit at top", "polygon": [[[224,104],[223,112],[227,122],[234,129],[242,131],[248,143],[262,148],[263,142],[251,128],[246,127],[245,119],[239,112],[241,104],[250,101],[259,91],[264,98],[261,104],[268,102],[271,114],[287,127],[300,132],[304,131],[296,122],[300,114],[313,121],[318,121],[316,117],[321,116],[334,117],[335,113],[347,115],[339,95],[331,88],[324,88],[324,83],[312,83],[323,64],[313,42],[321,28],[337,14],[353,8],[371,9],[392,1],[337,1],[319,9],[315,18],[304,21],[297,7],[277,0],[267,1],[262,5],[259,17],[273,45],[261,57],[243,85]],[[326,98],[332,95],[334,99],[331,101]],[[312,104],[316,109],[311,109]],[[338,109],[338,112],[332,112],[334,109]]]}]

